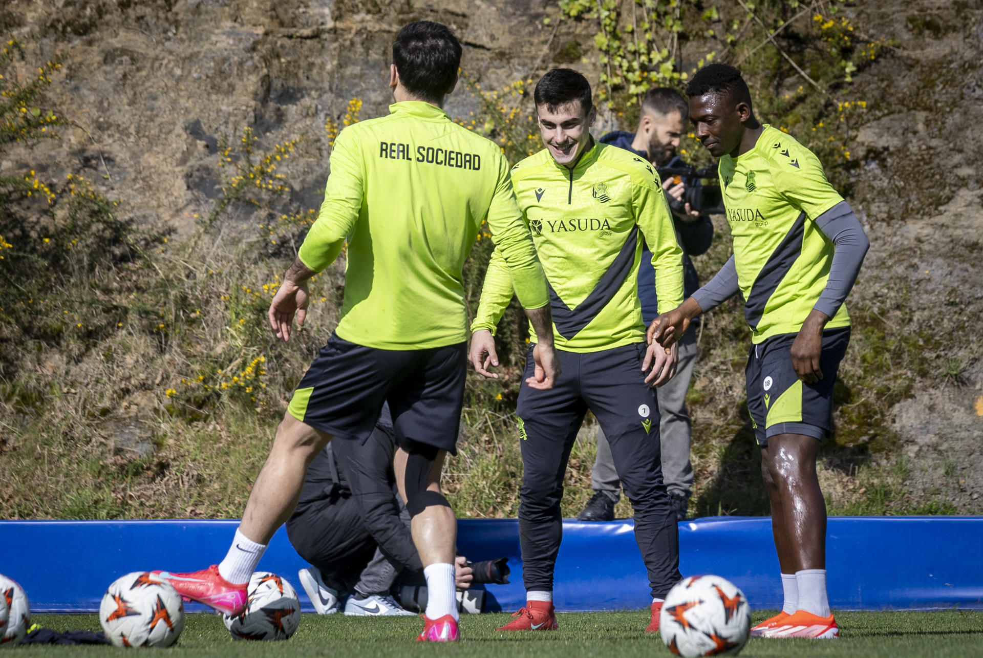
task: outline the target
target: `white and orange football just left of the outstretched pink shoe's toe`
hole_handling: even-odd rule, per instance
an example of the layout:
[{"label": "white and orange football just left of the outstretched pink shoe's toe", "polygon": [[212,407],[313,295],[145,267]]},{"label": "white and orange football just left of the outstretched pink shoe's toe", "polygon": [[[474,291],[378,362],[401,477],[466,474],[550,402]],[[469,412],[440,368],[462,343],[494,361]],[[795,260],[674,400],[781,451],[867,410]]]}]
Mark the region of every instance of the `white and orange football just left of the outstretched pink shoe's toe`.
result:
[{"label": "white and orange football just left of the outstretched pink shoe's toe", "polygon": [[106,589],[99,623],[116,646],[170,646],[184,628],[184,603],[169,582],[134,571]]}]

